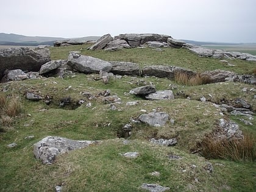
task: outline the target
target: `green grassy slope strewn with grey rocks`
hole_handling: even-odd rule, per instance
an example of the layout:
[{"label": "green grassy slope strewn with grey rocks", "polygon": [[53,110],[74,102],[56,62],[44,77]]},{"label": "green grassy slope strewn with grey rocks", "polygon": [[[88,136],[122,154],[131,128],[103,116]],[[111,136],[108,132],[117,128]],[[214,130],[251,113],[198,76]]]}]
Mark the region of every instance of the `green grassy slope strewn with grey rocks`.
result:
[{"label": "green grassy slope strewn with grey rocks", "polygon": [[[199,58],[185,49],[165,49],[156,52],[151,49],[125,49],[118,52],[87,51],[86,46],[71,46],[67,48],[51,48],[52,59],[66,59],[69,51],[82,49],[82,54],[92,55],[104,60],[124,60],[145,64],[167,64],[182,66],[196,71],[208,69],[229,69],[237,73],[251,73],[255,68],[253,62],[236,62],[236,67],[223,66],[216,59]],[[255,191],[255,163],[229,162],[224,160],[210,160],[213,163],[212,174],[205,171],[207,160],[197,155],[191,155],[196,141],[204,133],[210,132],[222,116],[219,108],[212,104],[199,102],[201,96],[215,102],[221,98],[243,98],[255,104],[254,91],[244,93],[242,88],[248,90],[252,85],[225,83],[208,84],[194,87],[177,85],[177,89],[188,94],[191,100],[174,99],[172,101],[144,101],[135,96],[127,96],[124,92],[130,89],[149,84],[156,85],[157,90],[169,89],[174,85],[168,79],[123,77],[110,79],[105,85],[101,81],[93,80],[93,76],[76,74],[75,77],[65,79],[38,79],[24,80],[1,84],[1,89],[8,89],[7,94],[20,95],[25,115],[16,118],[7,131],[0,133],[0,191],[54,191],[56,185],[64,183],[63,191],[140,191],[142,183],[159,183],[168,186],[171,191]],[[57,83],[57,84],[56,84]],[[132,83],[132,84],[131,84]],[[69,90],[67,87],[72,86]],[[74,99],[85,99],[81,91],[97,94],[109,89],[122,99],[122,104],[117,105],[118,110],[110,110],[109,105],[101,99],[87,101],[92,107],[82,105],[76,110],[64,110],[58,107],[63,96]],[[24,99],[26,90],[40,90],[43,95],[53,96],[53,103],[46,105],[43,102],[32,102]],[[224,91],[225,90],[225,91]],[[211,94],[210,97],[208,94]],[[127,101],[138,101],[137,106],[126,106]],[[41,109],[48,109],[41,111]],[[116,135],[129,123],[130,118],[137,118],[141,109],[151,112],[157,108],[159,111],[168,112],[175,123],[167,123],[165,127],[155,128],[145,124],[133,124],[134,130],[129,144]],[[253,105],[255,108],[255,105]],[[229,117],[225,114],[226,118]],[[255,128],[245,126],[237,116],[230,116],[240,124],[241,129],[255,133]],[[243,117],[244,118],[244,117]],[[256,120],[252,123],[255,125]],[[28,135],[35,135],[31,140],[24,140]],[[51,166],[41,165],[34,159],[33,144],[48,135],[57,135],[74,140],[104,140],[103,143],[87,149],[69,152],[57,158]],[[165,148],[152,146],[148,138],[178,137],[176,147]],[[17,143],[13,149],[7,144]],[[123,158],[120,153],[128,151],[140,152],[136,160]],[[180,155],[180,160],[169,160],[168,155]],[[216,164],[217,163],[217,164]],[[222,165],[219,165],[221,163]],[[191,165],[196,165],[192,168]],[[186,172],[182,172],[186,170]],[[150,175],[159,171],[159,177]],[[197,182],[198,180],[198,182]]]}]

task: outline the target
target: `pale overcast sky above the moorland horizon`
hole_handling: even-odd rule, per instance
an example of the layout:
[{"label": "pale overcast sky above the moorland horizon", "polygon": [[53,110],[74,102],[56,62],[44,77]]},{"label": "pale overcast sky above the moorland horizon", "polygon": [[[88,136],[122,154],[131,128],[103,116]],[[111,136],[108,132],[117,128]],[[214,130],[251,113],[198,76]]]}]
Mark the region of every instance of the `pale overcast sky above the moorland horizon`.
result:
[{"label": "pale overcast sky above the moorland horizon", "polygon": [[256,42],[256,0],[1,0],[0,32],[86,37],[157,33]]}]

